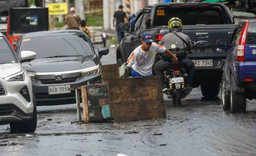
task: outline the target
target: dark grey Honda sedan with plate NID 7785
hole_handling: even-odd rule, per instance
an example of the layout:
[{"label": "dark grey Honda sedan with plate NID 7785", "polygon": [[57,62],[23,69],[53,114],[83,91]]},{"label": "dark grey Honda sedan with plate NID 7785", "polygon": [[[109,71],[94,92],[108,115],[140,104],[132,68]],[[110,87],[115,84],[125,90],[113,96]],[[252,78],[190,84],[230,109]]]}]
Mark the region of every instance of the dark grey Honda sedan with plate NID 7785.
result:
[{"label": "dark grey Honda sedan with plate NID 7785", "polygon": [[100,57],[108,49],[100,47],[99,56],[88,36],[80,30],[39,31],[23,34],[16,52],[34,51],[36,59],[22,63],[33,85],[37,106],[74,104],[75,91],[69,88],[101,82]]}]

